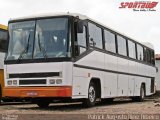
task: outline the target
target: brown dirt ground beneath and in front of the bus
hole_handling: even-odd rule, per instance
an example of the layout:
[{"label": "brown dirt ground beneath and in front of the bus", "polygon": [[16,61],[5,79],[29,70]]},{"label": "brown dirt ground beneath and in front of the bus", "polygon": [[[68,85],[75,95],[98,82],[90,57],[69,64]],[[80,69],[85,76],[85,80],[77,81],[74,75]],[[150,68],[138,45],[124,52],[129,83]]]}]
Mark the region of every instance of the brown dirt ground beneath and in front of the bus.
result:
[{"label": "brown dirt ground beneath and in front of the bus", "polygon": [[52,103],[42,109],[31,103],[2,103],[0,120],[160,120],[160,97],[144,102],[117,99],[84,108],[81,103]]}]

